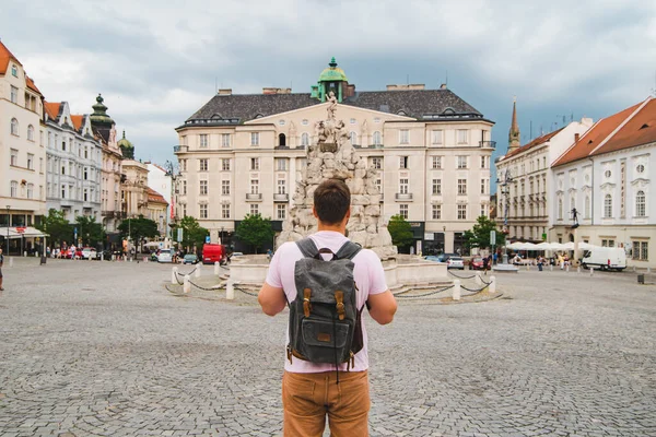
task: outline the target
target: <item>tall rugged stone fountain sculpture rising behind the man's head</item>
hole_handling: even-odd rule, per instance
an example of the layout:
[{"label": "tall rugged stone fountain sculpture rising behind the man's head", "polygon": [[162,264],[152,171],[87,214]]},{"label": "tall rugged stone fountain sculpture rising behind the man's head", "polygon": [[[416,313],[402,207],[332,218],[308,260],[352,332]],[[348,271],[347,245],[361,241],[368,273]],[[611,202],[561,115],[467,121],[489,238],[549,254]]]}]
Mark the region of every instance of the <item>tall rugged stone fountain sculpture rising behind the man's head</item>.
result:
[{"label": "tall rugged stone fountain sculpture rising behind the man's head", "polygon": [[377,172],[367,166],[366,157],[359,156],[349,141],[344,122],[337,120],[337,98],[330,92],[328,118],[315,126],[316,144],[307,149],[307,166],[296,182],[294,205],[278,237],[277,247],[297,241],[317,231],[312,213],[316,188],[326,179],[343,180],[351,190],[351,218],[348,237],[364,248],[372,249],[382,260],[396,258],[387,223],[380,210],[380,191],[374,182]]}]

